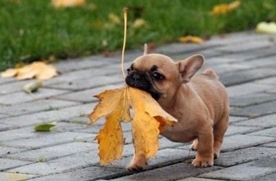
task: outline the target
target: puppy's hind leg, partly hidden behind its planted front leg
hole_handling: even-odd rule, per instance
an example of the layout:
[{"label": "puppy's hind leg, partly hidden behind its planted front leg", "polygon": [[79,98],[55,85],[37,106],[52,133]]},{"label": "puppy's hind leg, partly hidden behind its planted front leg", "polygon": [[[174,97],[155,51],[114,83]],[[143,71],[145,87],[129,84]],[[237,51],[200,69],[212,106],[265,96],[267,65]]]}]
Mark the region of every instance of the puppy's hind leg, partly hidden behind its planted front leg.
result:
[{"label": "puppy's hind leg, partly hidden behind its planted front leg", "polygon": [[224,134],[228,127],[229,115],[226,113],[224,117],[214,126],[214,159],[219,158],[221,144],[224,140]]}]

